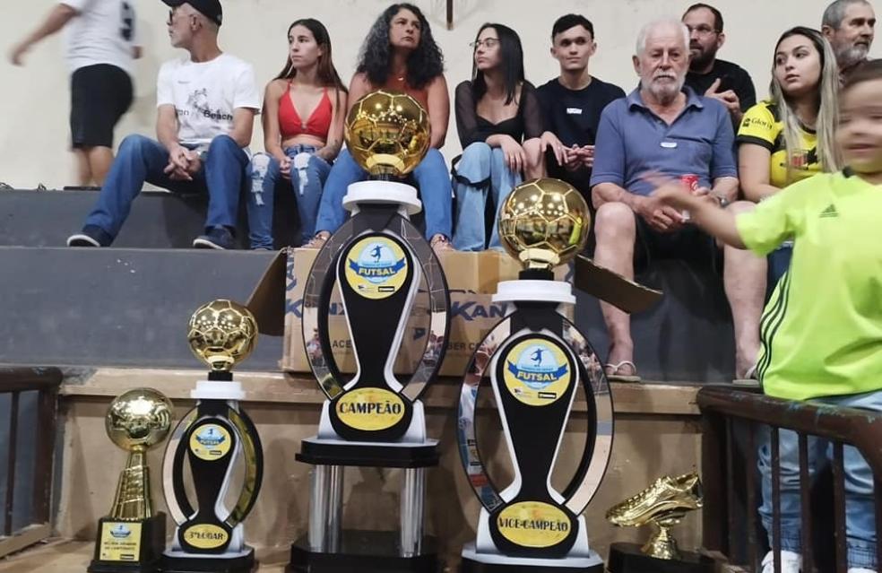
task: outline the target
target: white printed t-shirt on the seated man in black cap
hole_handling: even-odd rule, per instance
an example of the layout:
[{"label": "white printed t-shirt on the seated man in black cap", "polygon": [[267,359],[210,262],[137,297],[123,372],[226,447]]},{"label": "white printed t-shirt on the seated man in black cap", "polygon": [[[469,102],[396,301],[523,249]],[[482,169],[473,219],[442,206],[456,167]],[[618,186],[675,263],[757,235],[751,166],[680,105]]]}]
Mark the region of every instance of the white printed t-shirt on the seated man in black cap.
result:
[{"label": "white printed t-shirt on the seated man in black cap", "polygon": [[156,82],[156,105],[177,111],[177,140],[199,152],[217,135],[233,129],[237,108],[260,109],[254,68],[236,56],[221,54],[196,63],[187,55],[166,62]]}]

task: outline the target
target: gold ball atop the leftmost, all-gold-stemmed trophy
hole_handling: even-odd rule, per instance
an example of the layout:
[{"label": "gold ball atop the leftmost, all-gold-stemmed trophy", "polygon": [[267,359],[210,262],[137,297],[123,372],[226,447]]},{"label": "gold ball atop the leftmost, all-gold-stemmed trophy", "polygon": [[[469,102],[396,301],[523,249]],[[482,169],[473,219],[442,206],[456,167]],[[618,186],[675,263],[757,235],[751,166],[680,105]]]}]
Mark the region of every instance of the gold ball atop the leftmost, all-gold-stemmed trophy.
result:
[{"label": "gold ball atop the leftmost, all-gold-stemmed trophy", "polygon": [[171,428],[171,402],[152,388],[134,388],[110,403],[104,426],[108,437],[126,451],[159,444]]}]

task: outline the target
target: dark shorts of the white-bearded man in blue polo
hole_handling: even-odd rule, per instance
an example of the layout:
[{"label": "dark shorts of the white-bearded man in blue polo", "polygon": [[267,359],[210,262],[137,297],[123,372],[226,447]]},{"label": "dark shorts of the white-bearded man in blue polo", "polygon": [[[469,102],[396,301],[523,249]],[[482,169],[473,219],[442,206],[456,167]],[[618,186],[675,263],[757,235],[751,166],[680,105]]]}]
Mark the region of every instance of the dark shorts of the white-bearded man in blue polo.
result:
[{"label": "dark shorts of the white-bearded man in blue polo", "polygon": [[640,215],[634,213],[634,219],[637,229],[634,246],[636,272],[662,259],[679,259],[715,272],[722,270],[722,249],[717,247],[713,237],[695,225],[687,224],[678,231],[660,233]]}]

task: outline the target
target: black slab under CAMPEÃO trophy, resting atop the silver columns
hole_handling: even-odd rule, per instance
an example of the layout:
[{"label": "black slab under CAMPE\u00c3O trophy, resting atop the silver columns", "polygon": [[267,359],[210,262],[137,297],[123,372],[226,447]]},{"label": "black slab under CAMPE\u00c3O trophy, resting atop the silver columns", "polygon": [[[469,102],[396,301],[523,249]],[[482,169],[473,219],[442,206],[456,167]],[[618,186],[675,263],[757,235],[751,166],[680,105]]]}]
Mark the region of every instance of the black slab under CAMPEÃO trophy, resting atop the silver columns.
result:
[{"label": "black slab under CAMPE\u00c3O trophy, resting atop the silver columns", "polygon": [[440,454],[437,442],[399,447],[304,439],[300,442],[300,452],[295,459],[311,465],[417,468],[436,466]]}]

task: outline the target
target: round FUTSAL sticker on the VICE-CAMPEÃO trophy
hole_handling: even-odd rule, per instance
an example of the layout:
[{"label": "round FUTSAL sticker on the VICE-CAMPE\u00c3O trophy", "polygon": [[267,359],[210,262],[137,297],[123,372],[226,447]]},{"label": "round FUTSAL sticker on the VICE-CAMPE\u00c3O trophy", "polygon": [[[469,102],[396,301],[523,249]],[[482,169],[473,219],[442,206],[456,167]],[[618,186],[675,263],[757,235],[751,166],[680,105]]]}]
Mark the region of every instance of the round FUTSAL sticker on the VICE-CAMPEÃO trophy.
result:
[{"label": "round FUTSAL sticker on the VICE-CAMPE\u00c3O trophy", "polygon": [[547,338],[528,338],[504,357],[508,391],[528,406],[554,404],[566,393],[572,372],[564,351]]}]

